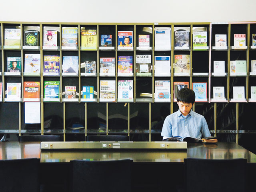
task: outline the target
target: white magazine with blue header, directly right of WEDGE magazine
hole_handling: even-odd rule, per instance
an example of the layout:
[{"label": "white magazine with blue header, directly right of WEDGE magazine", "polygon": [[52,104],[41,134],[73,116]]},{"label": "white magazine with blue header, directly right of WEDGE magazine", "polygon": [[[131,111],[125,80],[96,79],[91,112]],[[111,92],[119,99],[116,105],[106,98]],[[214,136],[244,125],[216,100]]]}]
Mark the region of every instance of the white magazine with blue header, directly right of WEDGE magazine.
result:
[{"label": "white magazine with blue header, directly right of WEDGE magazine", "polygon": [[171,60],[170,56],[155,56],[155,76],[170,76]]}]

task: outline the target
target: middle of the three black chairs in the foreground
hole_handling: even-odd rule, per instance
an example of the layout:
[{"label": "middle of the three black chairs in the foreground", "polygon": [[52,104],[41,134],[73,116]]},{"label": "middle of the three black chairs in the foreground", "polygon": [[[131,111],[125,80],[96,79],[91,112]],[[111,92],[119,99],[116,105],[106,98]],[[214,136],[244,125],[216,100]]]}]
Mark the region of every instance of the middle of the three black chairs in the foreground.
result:
[{"label": "middle of the three black chairs in the foreground", "polygon": [[70,161],[72,192],[130,192],[132,160]]}]

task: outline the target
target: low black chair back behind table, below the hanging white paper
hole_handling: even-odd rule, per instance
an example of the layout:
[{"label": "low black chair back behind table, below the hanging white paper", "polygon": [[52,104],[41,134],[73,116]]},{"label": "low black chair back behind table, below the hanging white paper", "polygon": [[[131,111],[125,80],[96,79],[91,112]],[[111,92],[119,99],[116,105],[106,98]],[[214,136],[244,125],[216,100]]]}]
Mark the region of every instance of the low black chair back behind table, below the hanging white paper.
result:
[{"label": "low black chair back behind table, below the hanging white paper", "polygon": [[63,138],[59,135],[22,135],[19,136],[19,141],[63,141]]}]

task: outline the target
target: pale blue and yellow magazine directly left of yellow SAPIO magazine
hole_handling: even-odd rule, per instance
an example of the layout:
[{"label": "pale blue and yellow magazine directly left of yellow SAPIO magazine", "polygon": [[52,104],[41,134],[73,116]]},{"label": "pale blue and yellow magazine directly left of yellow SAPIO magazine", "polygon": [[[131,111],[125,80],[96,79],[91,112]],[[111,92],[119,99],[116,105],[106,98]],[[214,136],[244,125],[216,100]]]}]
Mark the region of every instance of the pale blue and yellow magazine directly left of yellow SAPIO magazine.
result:
[{"label": "pale blue and yellow magazine directly left of yellow SAPIO magazine", "polygon": [[77,27],[62,28],[62,47],[77,47]]}]

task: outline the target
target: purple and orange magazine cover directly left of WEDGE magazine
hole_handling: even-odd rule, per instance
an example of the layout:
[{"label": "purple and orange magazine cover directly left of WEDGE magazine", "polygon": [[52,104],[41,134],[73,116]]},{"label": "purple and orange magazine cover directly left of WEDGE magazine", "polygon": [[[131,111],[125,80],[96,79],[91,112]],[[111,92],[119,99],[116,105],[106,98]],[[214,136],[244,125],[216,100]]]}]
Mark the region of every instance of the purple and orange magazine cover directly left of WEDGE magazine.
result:
[{"label": "purple and orange magazine cover directly left of WEDGE magazine", "polygon": [[132,56],[118,56],[118,75],[132,75]]}]

